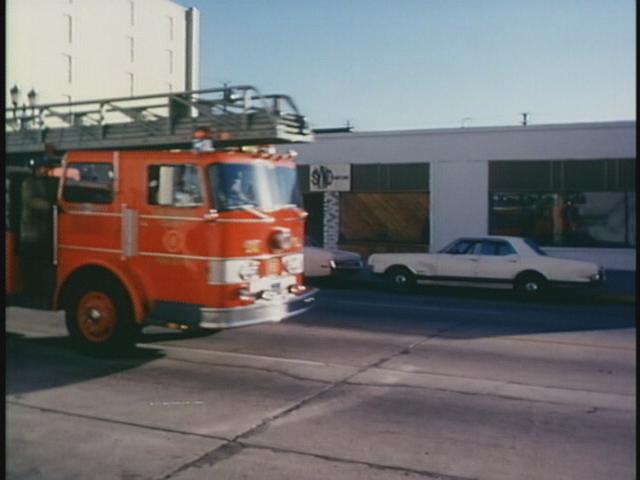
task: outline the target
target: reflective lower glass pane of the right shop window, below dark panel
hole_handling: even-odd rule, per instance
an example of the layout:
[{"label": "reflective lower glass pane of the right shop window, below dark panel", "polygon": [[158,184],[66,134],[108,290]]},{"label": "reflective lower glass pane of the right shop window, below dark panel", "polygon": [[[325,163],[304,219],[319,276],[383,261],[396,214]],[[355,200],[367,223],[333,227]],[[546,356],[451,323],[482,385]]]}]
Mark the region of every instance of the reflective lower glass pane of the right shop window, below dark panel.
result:
[{"label": "reflective lower glass pane of the right shop window, below dark panel", "polygon": [[541,245],[635,245],[635,197],[625,192],[491,194],[490,231]]}]

